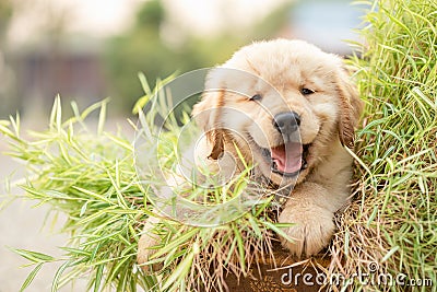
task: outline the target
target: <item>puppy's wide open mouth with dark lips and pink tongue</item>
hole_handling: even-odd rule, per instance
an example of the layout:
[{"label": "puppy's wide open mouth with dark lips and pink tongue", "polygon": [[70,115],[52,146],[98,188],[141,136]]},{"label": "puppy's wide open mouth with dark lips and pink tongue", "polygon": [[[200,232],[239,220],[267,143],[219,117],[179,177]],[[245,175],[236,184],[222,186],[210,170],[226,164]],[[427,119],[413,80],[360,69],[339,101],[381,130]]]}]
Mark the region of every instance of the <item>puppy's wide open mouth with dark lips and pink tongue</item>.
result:
[{"label": "puppy's wide open mouth with dark lips and pink tongue", "polygon": [[282,176],[296,176],[308,167],[306,157],[310,144],[287,142],[271,149],[262,149],[271,170]]}]

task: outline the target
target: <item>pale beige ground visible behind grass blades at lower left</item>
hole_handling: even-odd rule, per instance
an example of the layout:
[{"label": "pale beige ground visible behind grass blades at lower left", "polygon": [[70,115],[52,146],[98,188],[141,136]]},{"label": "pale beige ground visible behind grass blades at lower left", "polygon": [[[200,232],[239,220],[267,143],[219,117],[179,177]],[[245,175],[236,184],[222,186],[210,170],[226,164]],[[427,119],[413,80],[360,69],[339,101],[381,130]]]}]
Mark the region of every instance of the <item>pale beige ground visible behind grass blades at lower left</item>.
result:
[{"label": "pale beige ground visible behind grass blades at lower left", "polygon": [[[114,121],[108,128],[116,129],[121,126],[126,135],[130,131],[130,126],[125,120]],[[24,126],[22,128],[25,128]],[[113,131],[113,132],[114,132]],[[3,196],[4,179],[15,172],[12,177],[17,179],[23,174],[23,166],[17,162],[3,155],[7,150],[7,142],[0,135],[0,207],[8,200]],[[13,189],[14,194],[22,194],[20,189]],[[0,210],[0,292],[17,292],[32,268],[20,268],[28,264],[19,255],[12,253],[8,247],[23,248],[45,253],[51,256],[59,256],[59,246],[63,246],[68,240],[66,234],[57,234],[57,226],[62,224],[62,218],[58,219],[58,224],[51,226],[48,221],[43,227],[45,218],[49,209],[45,206],[34,208],[35,202],[15,200]],[[50,291],[54,276],[61,264],[55,264],[43,269],[34,279],[32,285],[26,291]],[[78,282],[74,287],[66,287],[60,291],[85,291],[85,281]]]}]

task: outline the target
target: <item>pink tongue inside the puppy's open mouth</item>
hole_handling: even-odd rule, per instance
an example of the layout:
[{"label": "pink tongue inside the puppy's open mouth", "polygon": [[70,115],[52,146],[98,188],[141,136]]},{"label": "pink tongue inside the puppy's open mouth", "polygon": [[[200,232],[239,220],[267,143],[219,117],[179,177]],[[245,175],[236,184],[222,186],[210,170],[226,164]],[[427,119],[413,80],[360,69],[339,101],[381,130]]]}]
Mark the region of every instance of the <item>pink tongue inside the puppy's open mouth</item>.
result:
[{"label": "pink tongue inside the puppy's open mouth", "polygon": [[302,143],[288,142],[271,149],[272,160],[277,171],[282,173],[295,173],[302,168]]}]

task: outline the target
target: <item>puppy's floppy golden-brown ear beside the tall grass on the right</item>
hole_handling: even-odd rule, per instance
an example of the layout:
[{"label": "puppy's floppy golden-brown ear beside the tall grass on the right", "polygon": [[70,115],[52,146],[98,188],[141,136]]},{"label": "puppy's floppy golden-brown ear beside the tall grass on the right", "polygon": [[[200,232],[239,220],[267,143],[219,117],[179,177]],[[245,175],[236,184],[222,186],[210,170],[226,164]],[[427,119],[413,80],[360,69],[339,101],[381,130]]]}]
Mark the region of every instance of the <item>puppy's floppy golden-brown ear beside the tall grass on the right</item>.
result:
[{"label": "puppy's floppy golden-brown ear beside the tall grass on the right", "polygon": [[355,127],[363,110],[363,102],[359,100],[358,91],[351,81],[346,69],[341,68],[336,74],[336,86],[340,96],[340,142],[350,149],[354,147]]}]

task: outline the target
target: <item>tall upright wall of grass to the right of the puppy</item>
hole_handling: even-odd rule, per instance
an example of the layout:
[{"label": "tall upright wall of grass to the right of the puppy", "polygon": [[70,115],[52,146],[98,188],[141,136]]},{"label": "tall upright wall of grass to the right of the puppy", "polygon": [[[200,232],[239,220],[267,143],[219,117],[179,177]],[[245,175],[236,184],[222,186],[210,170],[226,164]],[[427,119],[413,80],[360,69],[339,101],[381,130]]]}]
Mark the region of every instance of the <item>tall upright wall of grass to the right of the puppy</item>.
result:
[{"label": "tall upright wall of grass to the right of the puppy", "polygon": [[[356,200],[339,217],[332,273],[429,279],[376,291],[437,289],[437,2],[375,1],[354,58],[366,113],[357,133]],[[405,281],[406,282],[406,281]],[[366,290],[359,281],[349,288]]]}]

